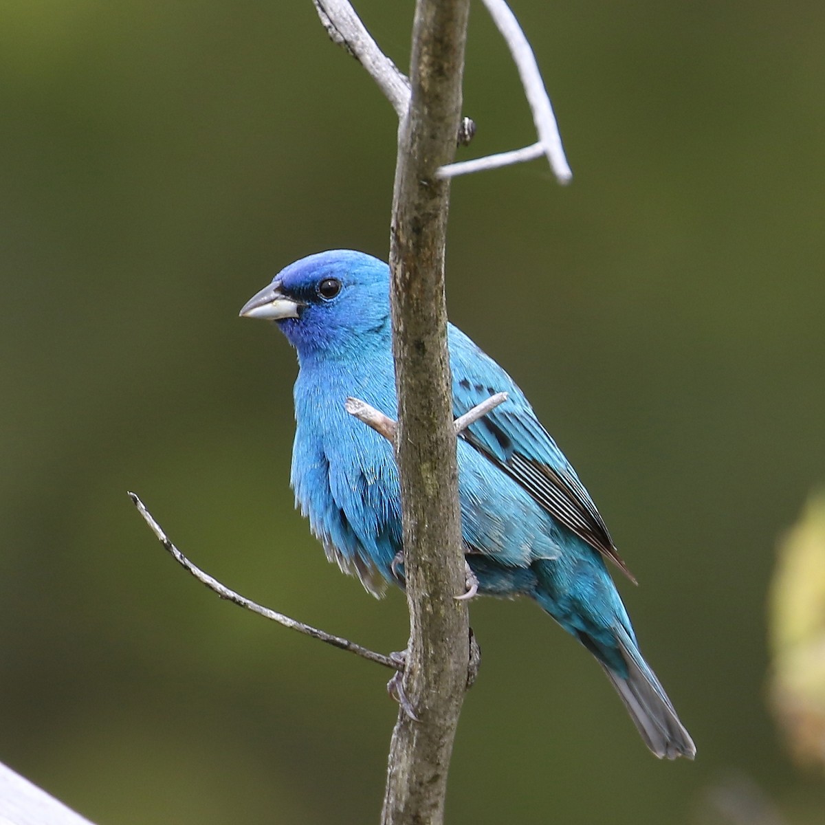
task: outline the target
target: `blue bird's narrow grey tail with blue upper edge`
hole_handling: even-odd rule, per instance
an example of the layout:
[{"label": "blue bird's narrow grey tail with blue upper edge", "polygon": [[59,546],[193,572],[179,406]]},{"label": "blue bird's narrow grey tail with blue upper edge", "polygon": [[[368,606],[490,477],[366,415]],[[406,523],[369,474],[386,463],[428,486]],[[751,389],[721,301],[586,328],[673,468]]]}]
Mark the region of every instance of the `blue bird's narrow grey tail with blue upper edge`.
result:
[{"label": "blue bird's narrow grey tail with blue upper edge", "polygon": [[627,664],[627,676],[620,676],[601,659],[599,663],[625,703],[645,744],[660,759],[693,759],[696,746],[691,734],[679,721],[671,700],[642,658],[636,643],[622,627],[616,631],[616,642]]}]

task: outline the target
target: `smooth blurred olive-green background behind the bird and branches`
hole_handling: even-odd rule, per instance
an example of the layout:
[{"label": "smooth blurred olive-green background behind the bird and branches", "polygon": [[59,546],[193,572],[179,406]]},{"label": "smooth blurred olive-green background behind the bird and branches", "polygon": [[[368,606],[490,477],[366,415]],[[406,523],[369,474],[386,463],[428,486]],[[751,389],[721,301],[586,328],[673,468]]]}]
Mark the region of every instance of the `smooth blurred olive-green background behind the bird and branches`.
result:
[{"label": "smooth blurred olive-green background behind the bird and branches", "polygon": [[[820,823],[766,710],[780,532],[825,478],[825,6],[514,0],[573,166],[455,181],[451,318],[512,373],[641,582],[699,747],[646,752],[535,606],[483,647],[450,823],[705,823],[730,775]],[[413,2],[361,0],[406,67]],[[386,256],[394,114],[309,0],[0,7],[0,760],[96,820],[378,821],[387,673],[220,602],[191,558],[383,651],[403,597],[329,565],[288,486],[295,358],[241,304]],[[479,2],[461,158],[534,140]]]}]

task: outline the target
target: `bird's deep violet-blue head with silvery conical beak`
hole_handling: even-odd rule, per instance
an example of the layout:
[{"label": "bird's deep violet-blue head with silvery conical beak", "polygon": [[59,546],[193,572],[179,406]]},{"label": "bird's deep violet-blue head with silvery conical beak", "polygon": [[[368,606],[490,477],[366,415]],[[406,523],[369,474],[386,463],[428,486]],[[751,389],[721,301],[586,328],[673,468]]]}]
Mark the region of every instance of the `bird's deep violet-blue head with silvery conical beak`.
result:
[{"label": "bird's deep violet-blue head with silvery conical beak", "polygon": [[299,355],[335,356],[383,343],[389,266],[364,252],[318,252],[282,269],[240,314],[275,321]]}]

